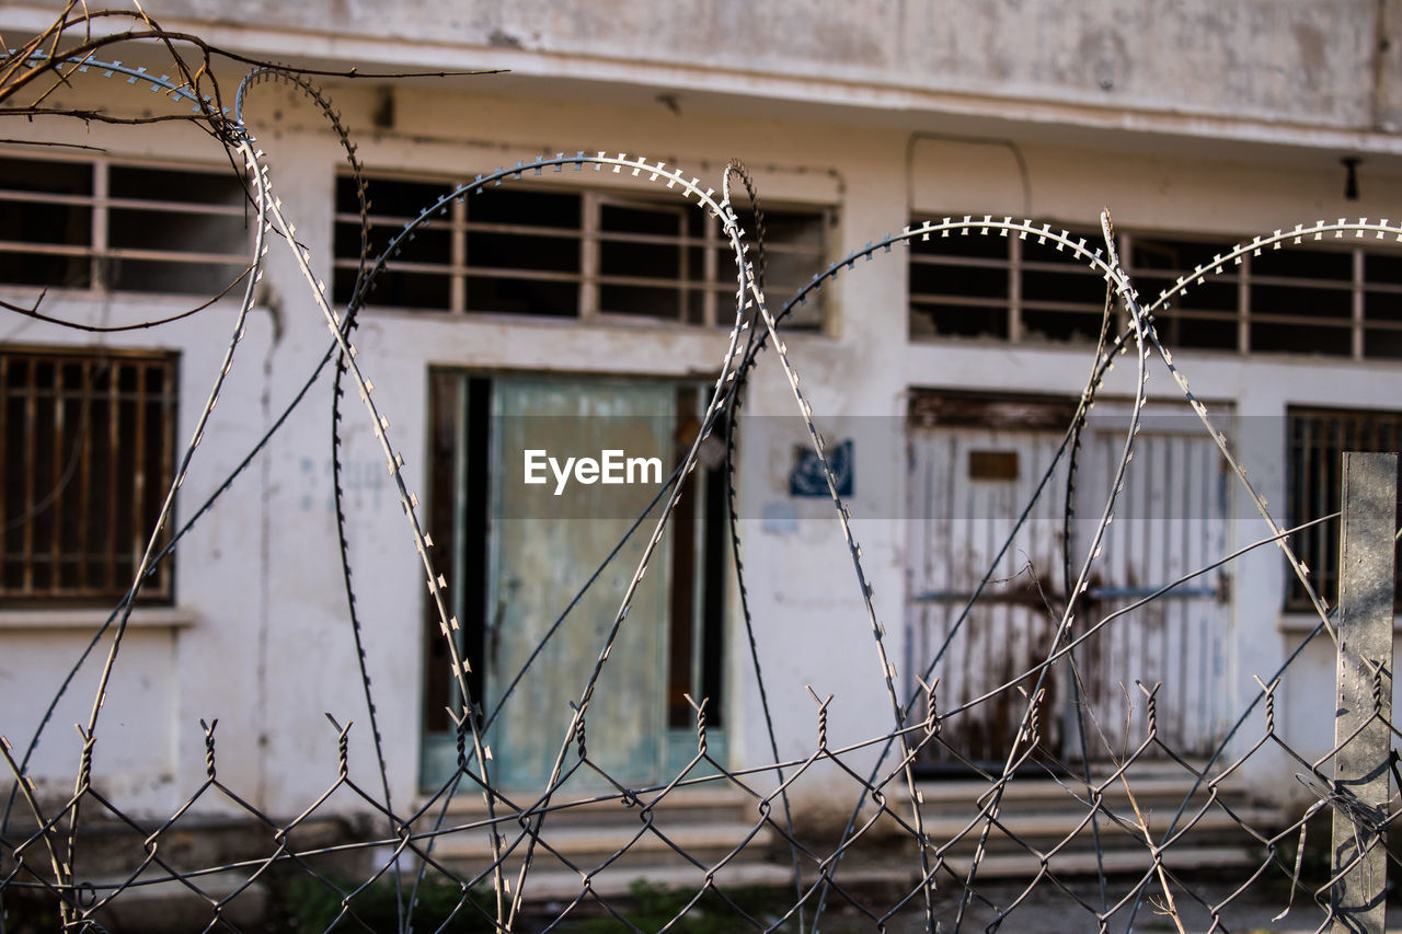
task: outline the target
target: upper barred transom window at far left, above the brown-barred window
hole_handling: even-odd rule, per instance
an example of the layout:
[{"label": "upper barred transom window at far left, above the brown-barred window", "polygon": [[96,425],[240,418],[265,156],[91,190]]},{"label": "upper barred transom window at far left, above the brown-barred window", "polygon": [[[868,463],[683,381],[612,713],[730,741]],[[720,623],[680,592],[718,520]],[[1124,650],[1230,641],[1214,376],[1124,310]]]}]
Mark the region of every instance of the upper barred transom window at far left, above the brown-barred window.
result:
[{"label": "upper barred transom window at far left, above the brown-barred window", "polygon": [[0,285],[213,296],[248,243],[227,168],[0,153]]}]

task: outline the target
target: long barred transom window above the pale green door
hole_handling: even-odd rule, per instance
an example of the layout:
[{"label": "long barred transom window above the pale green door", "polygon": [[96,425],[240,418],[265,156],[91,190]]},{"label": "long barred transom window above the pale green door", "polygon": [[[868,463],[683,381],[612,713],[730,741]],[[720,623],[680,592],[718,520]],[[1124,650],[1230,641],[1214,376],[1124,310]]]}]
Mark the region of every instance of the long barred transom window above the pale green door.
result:
[{"label": "long barred transom window above the pale green door", "polygon": [[[450,191],[449,182],[369,180],[369,254]],[[754,217],[740,212],[754,230]],[[822,272],[827,212],[764,210],[765,293],[782,302]],[[753,236],[753,234],[751,234]],[[355,181],[336,184],[335,300],[349,302],[360,257]],[[729,327],[736,269],[716,217],[694,205],[614,192],[488,188],[454,201],[401,244],[366,303],[381,309],[501,313],[582,321]],[[778,313],[778,306],[773,309]],[[822,299],[791,330],[822,327]]]}]

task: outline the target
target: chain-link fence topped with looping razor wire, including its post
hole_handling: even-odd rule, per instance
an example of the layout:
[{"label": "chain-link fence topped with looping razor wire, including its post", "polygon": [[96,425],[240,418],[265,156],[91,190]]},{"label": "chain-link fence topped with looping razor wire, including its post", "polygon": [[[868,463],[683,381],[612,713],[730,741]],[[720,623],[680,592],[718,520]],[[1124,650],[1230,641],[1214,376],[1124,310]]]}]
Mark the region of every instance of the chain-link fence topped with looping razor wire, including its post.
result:
[{"label": "chain-link fence topped with looping razor wire, including its post", "polygon": [[[143,15],[136,20],[142,28],[157,28]],[[181,930],[265,930],[278,924],[372,931],[1000,927],[1227,931],[1277,930],[1286,924],[1318,931],[1384,928],[1392,858],[1385,837],[1394,819],[1395,787],[1389,783],[1399,780],[1396,729],[1391,719],[1395,459],[1360,457],[1345,463],[1340,599],[1330,606],[1335,595],[1314,589],[1307,568],[1290,548],[1291,536],[1300,529],[1283,527],[1256,494],[1216,415],[1192,393],[1186,374],[1159,342],[1155,314],[1242,255],[1322,236],[1402,240],[1402,227],[1385,220],[1340,220],[1276,231],[1224,251],[1155,300],[1145,302],[1115,254],[1108,216],[1102,217],[1101,241],[1012,217],[944,219],[913,224],[866,245],[778,306],[764,292],[763,213],[754,184],[739,163],[728,167],[716,192],[663,163],[627,154],[559,153],[501,168],[444,192],[436,203],[425,205],[381,251],[372,252],[363,224],[355,297],[338,307],[313,272],[311,252],[297,243],[273,192],[268,160],[243,122],[245,93],[259,83],[279,81],[306,94],[345,147],[365,217],[367,185],[359,180],[355,146],[331,102],[303,73],[257,66],[226,109],[217,86],[200,67],[219,55],[217,49],[182,41],[181,49],[192,49],[192,57],[182,57],[184,52],[171,46],[175,77],[157,76],[104,57],[101,41],[76,41],[88,21],[70,7],[49,34],[0,62],[6,98],[32,100],[25,107],[39,108],[43,95],[35,97],[32,88],[53,87],[56,81],[81,87],[84,80],[105,76],[193,108],[189,119],[206,128],[241,165],[255,215],[255,237],[248,269],[231,289],[234,295],[243,293],[241,313],[199,428],[175,459],[178,467],[165,505],[126,597],[84,654],[84,659],[90,654],[101,658],[105,648],[107,661],[90,686],[91,714],[79,726],[83,752],[73,792],[56,797],[52,788],[41,790],[32,780],[29,760],[48,717],[27,745],[3,743],[13,785],[0,827],[0,930],[46,930],[60,924],[74,931],[139,930],[153,924],[151,919]],[[74,50],[62,50],[70,46]],[[29,98],[22,97],[25,88],[31,88]],[[494,776],[484,736],[485,722],[496,711],[484,710],[481,698],[474,697],[470,680],[474,659],[461,655],[461,642],[453,635],[460,624],[449,610],[447,582],[435,568],[432,544],[418,517],[418,499],[405,485],[404,459],[394,447],[388,419],[376,404],[373,383],[365,372],[374,359],[358,356],[353,335],[358,313],[377,276],[401,251],[411,250],[409,243],[433,217],[479,189],[564,168],[628,174],[639,185],[656,187],[718,219],[735,257],[737,296],[729,346],[719,362],[721,377],[705,405],[700,432],[628,533],[644,541],[642,555],[617,613],[603,620],[590,670],[569,672],[580,683],[578,703],[571,705],[565,722],[543,726],[562,736],[548,780],[523,795]],[[739,209],[754,217],[753,229],[742,229]],[[838,494],[830,447],[815,424],[782,332],[792,309],[858,261],[892,252],[893,247],[938,244],[948,237],[1016,237],[1054,248],[1068,264],[1080,264],[1105,280],[1105,316],[1095,351],[1085,359],[1085,391],[1063,426],[1056,457],[1021,509],[1021,519],[1005,533],[997,560],[962,606],[946,616],[941,637],[920,658],[907,662],[916,668],[911,684],[918,686],[908,690],[894,659],[887,656],[886,630],[872,602],[872,583],[848,506]],[[325,318],[332,344],[307,387],[327,366],[332,367],[336,450],[343,384],[349,381],[358,390],[363,417],[374,426],[404,505],[456,680],[456,763],[449,778],[419,802],[412,806],[391,802],[390,764],[380,736],[384,725],[376,717],[353,610],[346,506],[336,457],[341,560],[369,724],[342,725],[328,714],[321,756],[325,788],[289,818],[265,813],[250,804],[257,799],[251,790],[226,784],[220,777],[217,721],[202,722],[203,783],[188,794],[182,790],[184,804],[167,816],[132,815],[100,790],[94,750],[102,736],[102,707],[133,602],[186,532],[205,519],[215,499],[229,491],[234,477],[258,457],[286,419],[285,412],[273,421],[269,435],[209,502],[184,524],[172,524],[174,491],[223,391],[223,377],[238,352],[269,250],[286,251],[307,279],[307,300]],[[39,302],[29,309],[8,306],[8,310],[48,317]],[[1116,310],[1129,323],[1123,331],[1116,327]],[[728,527],[743,607],[740,631],[749,635],[751,651],[757,651],[754,627],[763,620],[751,618],[746,599],[740,561],[746,543],[735,522],[733,464],[736,438],[743,436],[746,425],[740,402],[765,348],[773,351],[770,359],[782,370],[803,418],[833,501],[833,522],[851,553],[887,707],[864,712],[868,739],[834,745],[829,739],[829,715],[840,701],[813,694],[810,750],[802,757],[782,757],[756,655],[773,760],[737,769],[728,756],[714,753],[708,742],[709,701],[688,697],[694,715],[690,759],[665,780],[638,787],[615,778],[607,763],[592,756],[590,711],[596,691],[608,690],[601,676],[610,649],[627,627],[634,595],[679,508],[681,481],[697,467],[709,436],[725,442]],[[1039,592],[1033,609],[1044,627],[1033,641],[1036,656],[1018,670],[993,672],[977,683],[966,677],[953,690],[948,677],[951,647],[970,638],[969,628],[976,625],[970,620],[991,599],[998,583],[994,568],[1014,546],[1022,524],[1047,499],[1061,503],[1064,522],[1074,519],[1073,498],[1066,491],[1077,477],[1088,412],[1117,359],[1127,359],[1137,379],[1122,443],[1110,463],[1110,492],[1103,508],[1088,520],[1089,534],[1063,537],[1061,586],[1052,588],[1044,569],[1033,581]],[[1144,459],[1134,463],[1131,459],[1143,426],[1151,366],[1162,366],[1172,376],[1195,412],[1196,431],[1210,439],[1228,466],[1235,495],[1255,506],[1265,533],[1242,548],[1211,555],[1162,586],[1117,593],[1115,609],[1103,611],[1106,604],[1094,599],[1095,574],[1106,560],[1103,550],[1116,547],[1109,529],[1117,496],[1145,464]],[[292,407],[304,394],[306,388]],[[987,468],[1000,467],[994,463]],[[1356,488],[1352,481],[1359,477],[1363,480]],[[1173,599],[1175,592],[1190,589],[1258,548],[1281,551],[1297,592],[1316,618],[1280,670],[1259,680],[1255,700],[1230,711],[1230,726],[1214,736],[1213,747],[1185,747],[1161,725],[1161,698],[1178,686],[1094,683],[1092,659],[1108,651],[1116,632]],[[1366,557],[1354,560],[1350,554]],[[558,624],[545,638],[557,628]],[[1311,645],[1315,647],[1311,651],[1328,647],[1339,658],[1338,732],[1328,738],[1286,735],[1277,725],[1283,684]],[[67,679],[55,684],[50,715],[59,697],[86,687],[74,680],[80,666],[81,661]],[[1070,707],[1067,697],[1073,698]],[[1089,697],[1096,700],[1092,703]],[[998,712],[990,717],[994,710]],[[980,724],[998,724],[1002,732],[990,739],[970,726]],[[350,762],[355,729],[367,729],[374,738],[380,781],[373,787],[352,777],[359,774]],[[1328,752],[1322,756],[1304,752],[1318,747]],[[1267,799],[1259,792],[1252,776],[1259,776],[1260,769],[1252,766],[1260,762],[1269,763],[1270,770],[1293,773],[1298,784],[1294,798]],[[946,780],[930,777],[937,773]],[[836,816],[824,820],[809,819],[795,805],[799,792],[817,781],[836,808]],[[723,819],[718,818],[721,813]]]}]

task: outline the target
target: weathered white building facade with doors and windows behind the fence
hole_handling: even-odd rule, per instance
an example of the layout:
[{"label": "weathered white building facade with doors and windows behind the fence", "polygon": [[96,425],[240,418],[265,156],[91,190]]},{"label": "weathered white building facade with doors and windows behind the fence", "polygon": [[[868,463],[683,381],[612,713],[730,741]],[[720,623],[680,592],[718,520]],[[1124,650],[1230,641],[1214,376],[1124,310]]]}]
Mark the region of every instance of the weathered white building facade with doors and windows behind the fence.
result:
[{"label": "weathered white building facade with doors and windows behind the fence", "polygon": [[[1223,10],[1200,0],[1172,15],[1154,4],[1011,0],[742,7],[474,3],[443,14],[325,0],[254,3],[231,15],[196,0],[146,4],[164,27],[255,59],[362,73],[503,69],[325,81],[370,181],[372,252],[453,187],[557,153],[644,157],[718,192],[729,161],[743,160],[770,220],[765,295],[775,311],[831,264],[931,220],[1032,219],[1094,250],[1109,209],[1120,259],[1152,297],[1234,243],[1318,219],[1378,220],[1402,203],[1392,3],[1259,0]],[[36,6],[0,11],[7,38],[50,20]],[[220,66],[226,93],[240,76]],[[97,73],[55,101],[174,112],[160,95]],[[336,135],[283,84],[254,87],[245,114],[297,243],[343,304],[360,243]],[[11,119],[4,136],[0,206],[20,226],[0,237],[6,302],[29,307],[46,290],[39,309],[53,318],[137,324],[188,310],[247,262],[252,222],[241,185],[220,144],[196,128]],[[405,454],[407,485],[465,623],[472,689],[489,707],[655,491],[644,494],[644,484],[614,496],[599,484],[555,502],[554,482],[516,482],[519,452],[594,456],[597,419],[621,426],[620,450],[658,457],[670,473],[725,359],[735,279],[723,231],[665,181],[550,167],[449,205],[391,261],[360,314],[358,360]],[[743,196],[736,206],[743,224]],[[723,477],[702,468],[593,698],[592,754],[620,781],[676,776],[695,746],[687,696],[711,698],[711,754],[733,770],[775,757],[761,683],[780,759],[813,749],[808,687],[834,696],[834,747],[893,728],[887,665],[901,698],[918,696],[917,677],[930,673],[1075,411],[1105,300],[1085,264],[1035,237],[995,229],[941,240],[858,259],[795,310],[785,335],[819,426],[837,447],[852,442],[843,449],[847,502],[885,656],[830,499],[794,485],[795,447],[808,439],[768,351],[737,443],[753,656],[729,569]],[[1340,446],[1395,446],[1402,425],[1402,254],[1352,236],[1288,247],[1246,257],[1159,317],[1175,363],[1281,526],[1335,508],[1326,464]],[[292,252],[273,243],[229,384],[178,492],[175,527],[272,428],[331,346],[310,295]],[[237,297],[150,330],[94,334],[4,318],[0,696],[17,747],[129,583],[130,543],[144,544],[157,491],[195,432]],[[1115,313],[1116,330],[1127,327],[1123,309]],[[1270,536],[1178,384],[1159,362],[1151,370],[1140,470],[1092,578],[1098,603],[1088,614]],[[1099,390],[1073,494],[1075,527],[1103,506],[1134,393],[1130,355]],[[328,367],[147,582],[94,752],[98,781],[130,806],[164,813],[198,785],[200,718],[220,719],[220,778],[268,812],[297,813],[335,777],[324,711],[356,721],[353,774],[379,781],[338,557],[334,456],[388,794],[415,801],[451,771],[454,736],[442,711],[456,696],[419,557],[377,431],[353,391],[342,402],[334,454]],[[114,440],[74,453],[60,422],[72,429],[98,404],[123,412],[111,422]],[[747,419],[757,431],[746,432]],[[36,432],[56,440],[35,440]],[[55,499],[46,489],[69,492]],[[1046,627],[1064,600],[1066,495],[1063,471],[997,565],[983,609],[944,647],[932,673],[948,703],[1046,655]],[[118,505],[94,517],[97,502]],[[87,539],[73,544],[64,523],[76,527],[81,515]],[[1325,540],[1298,544],[1314,550],[1305,560],[1325,572],[1321,588],[1333,586]],[[639,554],[629,547],[502,708],[491,736],[505,785],[529,790],[548,777]],[[1049,749],[1073,760],[1091,743],[1092,757],[1108,760],[1106,749],[1133,745],[1141,721],[1129,735],[1110,721],[1123,719],[1120,683],[1141,718],[1138,679],[1162,682],[1166,742],[1206,759],[1259,693],[1255,676],[1269,680],[1315,623],[1279,550],[1256,548],[1183,585],[1152,614],[1112,627],[1103,652],[1082,662],[1103,736],[1080,738],[1071,689],[1060,682],[1046,708]],[[107,644],[80,669],[34,754],[31,774],[49,794],[72,787],[81,742],[69,724],[87,721]],[[1287,670],[1279,717],[1302,747],[1330,743],[1332,670],[1323,638]],[[951,719],[962,732],[946,739],[976,763],[1000,762],[1009,724],[1005,710],[974,708]],[[875,749],[852,762],[871,767]],[[931,774],[958,766],[946,754],[921,762]],[[1269,762],[1255,767],[1262,788],[1293,791]],[[826,806],[822,783],[805,794]]]}]

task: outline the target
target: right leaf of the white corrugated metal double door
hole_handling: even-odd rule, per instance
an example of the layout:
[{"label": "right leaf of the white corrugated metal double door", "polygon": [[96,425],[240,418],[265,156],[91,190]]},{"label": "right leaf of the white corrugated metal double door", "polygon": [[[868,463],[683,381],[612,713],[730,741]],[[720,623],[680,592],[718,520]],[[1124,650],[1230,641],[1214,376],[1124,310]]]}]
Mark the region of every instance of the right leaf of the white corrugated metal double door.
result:
[{"label": "right leaf of the white corrugated metal double door", "polygon": [[[1129,405],[1095,408],[1077,484],[1082,529],[1099,516],[1129,418]],[[1145,408],[1089,600],[1078,614],[1080,632],[1124,611],[1078,654],[1091,759],[1120,757],[1145,736],[1147,700],[1138,684],[1161,684],[1158,735],[1173,752],[1206,756],[1224,735],[1232,670],[1227,571],[1159,590],[1227,554],[1228,488],[1221,453],[1185,405]],[[1157,746],[1147,752],[1162,754]]]}]

